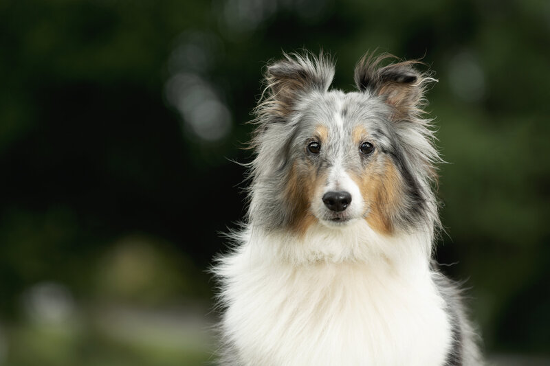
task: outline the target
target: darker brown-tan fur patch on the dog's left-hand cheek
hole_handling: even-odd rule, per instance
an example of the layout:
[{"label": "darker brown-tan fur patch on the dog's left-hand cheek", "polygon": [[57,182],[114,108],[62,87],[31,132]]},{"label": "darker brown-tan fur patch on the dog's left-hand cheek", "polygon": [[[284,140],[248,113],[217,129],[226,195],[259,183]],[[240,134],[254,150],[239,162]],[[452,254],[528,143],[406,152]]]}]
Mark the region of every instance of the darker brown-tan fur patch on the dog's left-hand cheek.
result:
[{"label": "darker brown-tan fur patch on the dog's left-hand cheek", "polygon": [[313,176],[312,169],[309,169],[303,176],[300,176],[296,165],[292,167],[289,184],[287,185],[286,199],[287,205],[292,207],[289,227],[298,236],[303,236],[307,229],[317,221],[309,209],[311,194],[316,189],[310,182],[314,181],[315,177]]}]

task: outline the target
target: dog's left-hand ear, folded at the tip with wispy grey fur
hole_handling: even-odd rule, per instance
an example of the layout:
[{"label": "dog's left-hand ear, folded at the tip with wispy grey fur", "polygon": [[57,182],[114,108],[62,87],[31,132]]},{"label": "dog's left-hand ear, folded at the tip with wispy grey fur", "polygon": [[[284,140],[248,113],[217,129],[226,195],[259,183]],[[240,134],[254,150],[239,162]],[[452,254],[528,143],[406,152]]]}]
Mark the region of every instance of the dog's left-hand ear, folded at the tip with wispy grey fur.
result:
[{"label": "dog's left-hand ear, folded at the tip with wispy grey fur", "polygon": [[322,53],[284,54],[283,60],[267,66],[265,82],[268,93],[264,102],[270,104],[271,113],[288,115],[303,95],[311,91],[327,91],[334,77],[334,65]]}]

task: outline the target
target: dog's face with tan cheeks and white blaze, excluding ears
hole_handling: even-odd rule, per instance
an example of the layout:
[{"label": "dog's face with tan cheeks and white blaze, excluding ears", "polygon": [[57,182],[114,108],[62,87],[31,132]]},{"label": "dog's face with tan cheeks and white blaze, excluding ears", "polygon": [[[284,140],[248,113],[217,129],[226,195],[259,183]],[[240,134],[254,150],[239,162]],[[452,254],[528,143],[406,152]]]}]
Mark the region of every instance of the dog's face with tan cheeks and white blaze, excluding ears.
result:
[{"label": "dog's face with tan cheeks and white blaze, excluding ears", "polygon": [[289,145],[289,181],[305,202],[302,220],[343,227],[367,220],[379,231],[392,230],[391,214],[399,208],[403,181],[393,156],[388,108],[363,93],[314,93],[296,106],[295,136]]}]

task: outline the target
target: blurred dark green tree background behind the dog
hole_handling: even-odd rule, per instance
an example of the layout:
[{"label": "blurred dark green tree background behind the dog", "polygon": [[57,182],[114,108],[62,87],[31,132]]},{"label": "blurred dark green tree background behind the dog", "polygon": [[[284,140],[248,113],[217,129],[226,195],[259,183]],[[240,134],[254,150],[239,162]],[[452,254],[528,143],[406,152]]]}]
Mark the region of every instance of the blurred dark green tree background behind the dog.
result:
[{"label": "blurred dark green tree background behind the dog", "polygon": [[250,161],[263,66],[303,47],[347,91],[369,49],[437,71],[438,259],[492,359],[542,365],[549,46],[545,0],[1,1],[0,365],[211,359],[206,268],[244,213],[230,159]]}]

